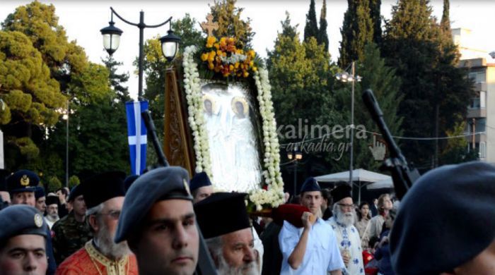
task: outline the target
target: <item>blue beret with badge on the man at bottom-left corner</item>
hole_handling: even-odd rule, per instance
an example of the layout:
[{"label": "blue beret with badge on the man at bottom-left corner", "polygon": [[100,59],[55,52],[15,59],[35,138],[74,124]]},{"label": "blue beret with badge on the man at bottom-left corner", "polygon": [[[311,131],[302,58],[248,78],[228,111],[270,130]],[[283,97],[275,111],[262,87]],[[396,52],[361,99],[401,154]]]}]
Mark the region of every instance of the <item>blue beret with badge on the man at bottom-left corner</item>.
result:
[{"label": "blue beret with badge on the man at bottom-left corner", "polygon": [[47,237],[45,219],[35,207],[25,204],[11,205],[0,211],[0,243],[18,235]]}]

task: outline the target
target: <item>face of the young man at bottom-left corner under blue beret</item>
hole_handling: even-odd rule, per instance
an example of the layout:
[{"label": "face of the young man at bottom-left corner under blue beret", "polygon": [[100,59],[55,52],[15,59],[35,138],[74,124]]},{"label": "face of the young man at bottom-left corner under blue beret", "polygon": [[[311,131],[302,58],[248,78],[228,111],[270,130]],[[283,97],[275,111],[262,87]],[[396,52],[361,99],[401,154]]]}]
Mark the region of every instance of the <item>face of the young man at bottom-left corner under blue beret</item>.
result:
[{"label": "face of the young man at bottom-left corner under blue beret", "polygon": [[45,238],[39,235],[18,235],[0,247],[0,273],[3,275],[44,275],[48,262]]}]

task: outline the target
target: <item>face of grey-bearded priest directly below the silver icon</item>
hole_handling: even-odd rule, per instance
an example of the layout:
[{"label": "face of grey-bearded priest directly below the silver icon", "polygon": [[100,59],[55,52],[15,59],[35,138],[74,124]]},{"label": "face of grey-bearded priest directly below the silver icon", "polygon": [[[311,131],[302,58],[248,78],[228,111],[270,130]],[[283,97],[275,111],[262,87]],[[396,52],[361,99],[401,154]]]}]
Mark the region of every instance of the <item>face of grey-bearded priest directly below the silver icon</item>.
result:
[{"label": "face of grey-bearded priest directly below the silver icon", "polygon": [[257,270],[255,243],[251,228],[228,233],[222,238],[223,259],[229,267],[229,273],[252,274]]}]

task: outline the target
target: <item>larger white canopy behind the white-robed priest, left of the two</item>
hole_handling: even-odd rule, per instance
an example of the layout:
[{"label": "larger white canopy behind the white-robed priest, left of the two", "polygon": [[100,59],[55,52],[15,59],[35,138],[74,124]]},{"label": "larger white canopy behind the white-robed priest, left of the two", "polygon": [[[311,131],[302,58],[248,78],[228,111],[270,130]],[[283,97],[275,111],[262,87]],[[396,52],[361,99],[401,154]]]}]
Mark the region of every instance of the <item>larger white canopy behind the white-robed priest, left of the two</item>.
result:
[{"label": "larger white canopy behind the white-robed priest, left of the two", "polygon": [[[349,182],[349,171],[317,176],[315,179],[318,183],[336,183],[338,181]],[[392,183],[392,177],[384,175],[383,173],[375,173],[364,169],[355,169],[352,171],[352,182],[354,186],[359,188],[359,203],[361,203],[361,188],[365,185],[378,181],[390,181],[390,183]]]}]

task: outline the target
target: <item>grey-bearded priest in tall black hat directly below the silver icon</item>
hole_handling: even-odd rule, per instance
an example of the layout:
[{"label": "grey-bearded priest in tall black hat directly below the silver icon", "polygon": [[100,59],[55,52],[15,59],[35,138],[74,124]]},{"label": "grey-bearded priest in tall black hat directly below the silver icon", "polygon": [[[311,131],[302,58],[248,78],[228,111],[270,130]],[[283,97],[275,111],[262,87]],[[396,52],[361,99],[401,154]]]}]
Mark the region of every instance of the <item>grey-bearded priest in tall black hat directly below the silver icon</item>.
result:
[{"label": "grey-bearded priest in tall black hat directly below the silver icon", "polygon": [[261,274],[245,195],[214,193],[194,204],[199,228],[219,275]]}]

